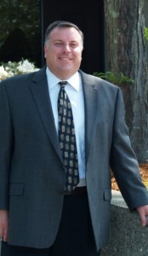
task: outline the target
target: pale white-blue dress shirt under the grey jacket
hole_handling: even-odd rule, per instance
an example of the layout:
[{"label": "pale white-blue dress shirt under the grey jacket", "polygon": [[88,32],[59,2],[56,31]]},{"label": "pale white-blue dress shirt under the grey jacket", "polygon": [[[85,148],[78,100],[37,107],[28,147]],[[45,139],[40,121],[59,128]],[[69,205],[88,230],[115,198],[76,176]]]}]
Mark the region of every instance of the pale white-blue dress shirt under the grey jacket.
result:
[{"label": "pale white-blue dress shirt under the grey jacket", "polygon": [[[50,70],[46,69],[47,79],[48,79],[48,92],[50,96],[50,101],[54,113],[54,122],[56,131],[58,134],[58,95],[60,92],[61,81],[54,76]],[[71,102],[71,108],[73,113],[75,131],[76,131],[76,141],[77,141],[77,157],[78,157],[78,170],[80,183],[77,186],[86,185],[85,181],[85,140],[84,140],[84,101],[83,101],[83,85],[80,74],[75,73],[70,79],[66,80],[68,84],[65,86],[65,91],[69,96]]]}]

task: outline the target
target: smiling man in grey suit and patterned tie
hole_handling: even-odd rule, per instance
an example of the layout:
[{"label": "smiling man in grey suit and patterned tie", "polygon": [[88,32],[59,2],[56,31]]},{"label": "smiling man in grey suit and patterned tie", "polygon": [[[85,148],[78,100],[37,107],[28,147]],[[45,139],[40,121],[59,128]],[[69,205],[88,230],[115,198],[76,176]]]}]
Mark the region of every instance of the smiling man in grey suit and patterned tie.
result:
[{"label": "smiling man in grey suit and patterned tie", "polygon": [[[110,166],[129,209],[137,209],[146,225],[148,194],[124,123],[121,90],[79,70],[82,51],[83,32],[55,21],[45,37],[47,67],[0,84],[2,256],[100,255],[109,238]],[[73,136],[69,144],[65,130]],[[77,150],[70,154],[78,160],[78,176],[66,147]]]}]

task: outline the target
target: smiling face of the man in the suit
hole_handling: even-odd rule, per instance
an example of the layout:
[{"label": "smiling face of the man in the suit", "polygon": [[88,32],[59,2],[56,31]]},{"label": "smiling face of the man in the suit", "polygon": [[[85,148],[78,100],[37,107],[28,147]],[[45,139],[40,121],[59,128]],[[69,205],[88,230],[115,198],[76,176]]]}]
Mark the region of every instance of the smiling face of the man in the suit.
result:
[{"label": "smiling face of the man in the suit", "polygon": [[60,79],[69,79],[80,67],[83,42],[74,27],[55,27],[44,46],[48,68]]}]

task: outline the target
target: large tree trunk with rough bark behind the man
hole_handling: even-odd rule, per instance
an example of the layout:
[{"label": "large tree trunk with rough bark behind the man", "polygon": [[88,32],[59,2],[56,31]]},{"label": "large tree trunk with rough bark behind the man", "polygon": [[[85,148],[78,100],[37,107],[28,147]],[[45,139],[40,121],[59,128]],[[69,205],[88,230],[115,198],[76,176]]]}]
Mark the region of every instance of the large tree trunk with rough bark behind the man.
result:
[{"label": "large tree trunk with rough bark behind the man", "polygon": [[107,70],[134,83],[122,85],[126,122],[139,163],[148,162],[148,68],[144,0],[104,0]]}]

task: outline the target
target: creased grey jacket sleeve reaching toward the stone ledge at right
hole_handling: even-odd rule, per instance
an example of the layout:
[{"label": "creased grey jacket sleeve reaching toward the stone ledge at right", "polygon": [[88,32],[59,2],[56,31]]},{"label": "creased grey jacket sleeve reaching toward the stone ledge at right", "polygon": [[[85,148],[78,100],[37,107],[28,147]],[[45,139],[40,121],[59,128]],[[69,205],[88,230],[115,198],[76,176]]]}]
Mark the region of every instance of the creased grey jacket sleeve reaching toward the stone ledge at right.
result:
[{"label": "creased grey jacket sleeve reaching toward the stone ledge at right", "polygon": [[118,89],[111,143],[111,170],[130,210],[148,204],[148,192],[141,181],[139,164],[131,147],[124,121],[122,91]]}]

